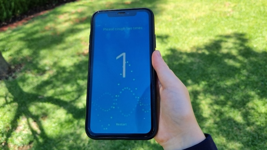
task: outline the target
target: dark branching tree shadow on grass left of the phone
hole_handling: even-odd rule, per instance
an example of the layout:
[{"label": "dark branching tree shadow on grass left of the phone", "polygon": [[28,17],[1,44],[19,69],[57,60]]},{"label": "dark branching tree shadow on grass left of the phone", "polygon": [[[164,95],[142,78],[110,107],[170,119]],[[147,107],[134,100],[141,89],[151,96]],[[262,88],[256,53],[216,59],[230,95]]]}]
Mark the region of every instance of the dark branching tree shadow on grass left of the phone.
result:
[{"label": "dark branching tree shadow on grass left of the phone", "polygon": [[[73,67],[74,68],[81,68],[81,66],[86,66],[86,64],[87,64],[86,61],[82,61],[81,63],[76,64]],[[66,69],[65,68],[59,68],[59,70],[66,70]],[[77,74],[77,71],[76,71],[76,69],[72,69],[71,71],[64,72],[64,73],[59,71],[55,75],[51,76],[50,79],[52,81],[53,80],[60,80],[62,75],[66,75],[66,74],[75,75],[75,74]],[[85,71],[85,75],[83,75],[83,76],[84,76],[84,78],[86,78],[86,71]],[[77,84],[77,87],[79,87],[79,84],[77,82],[74,83],[75,81],[76,80],[73,80],[72,84],[73,85]],[[36,142],[36,143],[34,143],[34,145],[36,145],[36,147],[43,147],[45,145],[46,145],[45,147],[47,147],[47,142],[57,141],[56,139],[53,139],[46,134],[47,131],[45,131],[45,128],[42,125],[42,122],[46,121],[47,115],[50,114],[50,112],[42,111],[42,109],[45,109],[45,110],[46,109],[50,110],[50,109],[46,108],[44,105],[40,105],[41,106],[40,107],[36,104],[55,105],[57,107],[57,109],[66,110],[66,113],[71,114],[74,119],[84,119],[84,117],[85,117],[85,114],[84,114],[85,108],[78,108],[75,105],[76,100],[78,98],[80,98],[79,94],[77,95],[77,97],[73,97],[72,100],[63,100],[63,99],[55,98],[52,96],[43,96],[43,95],[36,94],[36,93],[24,92],[24,90],[20,87],[20,85],[18,84],[18,81],[16,79],[4,80],[4,82],[6,84],[6,88],[9,92],[9,94],[11,94],[13,96],[12,101],[6,100],[6,104],[4,104],[4,105],[10,105],[11,103],[14,103],[17,105],[17,109],[15,110],[16,112],[15,112],[14,118],[11,121],[11,129],[12,130],[8,130],[8,132],[6,134],[6,138],[5,138],[6,142],[11,137],[14,130],[16,130],[16,128],[19,127],[18,120],[21,117],[25,117],[27,119],[28,127],[30,128],[34,142]],[[44,81],[44,82],[46,82],[46,81]],[[42,86],[42,85],[49,85],[49,84],[41,83],[39,85]],[[79,92],[79,91],[83,92],[84,88],[77,88],[73,92]],[[34,113],[32,110],[30,111],[30,107],[32,107],[34,105],[35,105],[36,111],[41,110],[42,113],[39,114],[39,113]],[[36,129],[36,127],[35,128],[32,127],[32,122],[30,122],[29,119],[33,120],[33,123],[35,123],[37,125],[37,129]],[[32,142],[33,141],[30,141],[30,143],[32,143]],[[58,145],[55,144],[52,147],[57,147],[57,146]],[[9,145],[8,145],[8,143],[6,143],[3,148],[8,149],[8,147],[9,147]]]}]

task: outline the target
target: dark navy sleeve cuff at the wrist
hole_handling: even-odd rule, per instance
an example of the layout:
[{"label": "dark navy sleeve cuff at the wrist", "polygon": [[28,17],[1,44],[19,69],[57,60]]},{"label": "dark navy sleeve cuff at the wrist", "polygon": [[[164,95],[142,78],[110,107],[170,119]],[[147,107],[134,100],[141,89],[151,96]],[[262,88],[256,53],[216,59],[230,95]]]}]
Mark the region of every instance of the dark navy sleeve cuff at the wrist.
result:
[{"label": "dark navy sleeve cuff at the wrist", "polygon": [[201,149],[205,149],[205,150],[218,150],[215,143],[213,142],[213,139],[211,137],[211,135],[209,134],[204,134],[206,136],[206,139],[204,139],[204,141],[200,142],[199,144],[196,144],[190,148],[186,148],[184,150],[201,150]]}]

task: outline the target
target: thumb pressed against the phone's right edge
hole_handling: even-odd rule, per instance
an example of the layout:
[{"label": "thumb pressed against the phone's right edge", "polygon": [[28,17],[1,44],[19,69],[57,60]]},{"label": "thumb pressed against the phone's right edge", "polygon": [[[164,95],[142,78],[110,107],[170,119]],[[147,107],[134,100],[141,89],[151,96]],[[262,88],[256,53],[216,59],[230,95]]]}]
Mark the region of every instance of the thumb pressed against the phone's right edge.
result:
[{"label": "thumb pressed against the phone's right edge", "polygon": [[152,54],[152,66],[154,67],[160,84],[163,87],[181,82],[161,57],[160,51],[155,50]]}]

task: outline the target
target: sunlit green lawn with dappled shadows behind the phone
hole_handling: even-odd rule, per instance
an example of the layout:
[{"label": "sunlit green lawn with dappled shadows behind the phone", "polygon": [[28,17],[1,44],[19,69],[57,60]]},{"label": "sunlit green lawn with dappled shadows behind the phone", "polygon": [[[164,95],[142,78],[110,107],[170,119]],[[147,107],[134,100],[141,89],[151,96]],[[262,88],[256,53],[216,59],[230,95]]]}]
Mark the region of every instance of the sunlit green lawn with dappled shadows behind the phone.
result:
[{"label": "sunlit green lawn with dappled shadows behind the phone", "polygon": [[90,17],[149,7],[157,49],[189,89],[199,125],[219,149],[266,149],[267,3],[80,0],[0,32],[0,50],[23,63],[0,81],[0,149],[162,149],[155,140],[96,141],[85,134]]}]

